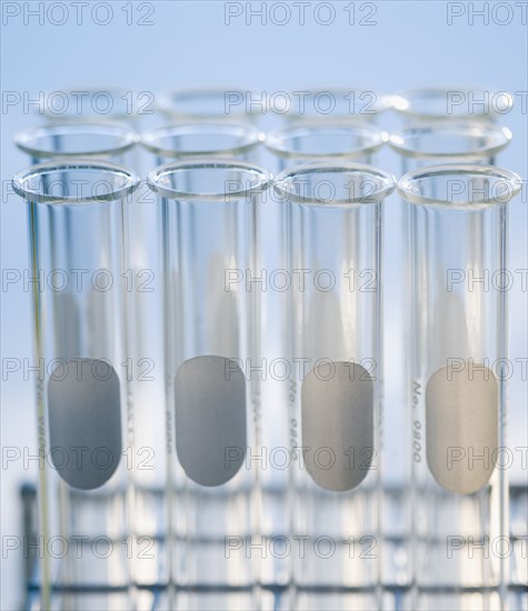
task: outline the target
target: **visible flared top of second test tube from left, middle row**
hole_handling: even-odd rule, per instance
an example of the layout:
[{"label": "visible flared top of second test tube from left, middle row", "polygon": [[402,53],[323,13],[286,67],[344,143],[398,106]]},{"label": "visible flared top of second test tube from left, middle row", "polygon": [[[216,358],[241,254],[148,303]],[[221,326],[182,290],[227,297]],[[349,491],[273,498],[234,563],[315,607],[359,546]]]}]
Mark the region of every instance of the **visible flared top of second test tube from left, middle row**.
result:
[{"label": "visible flared top of second test tube from left, middle row", "polygon": [[255,161],[265,136],[245,123],[202,121],[153,129],[142,134],[142,146],[156,156],[157,166],[193,157],[229,157]]}]

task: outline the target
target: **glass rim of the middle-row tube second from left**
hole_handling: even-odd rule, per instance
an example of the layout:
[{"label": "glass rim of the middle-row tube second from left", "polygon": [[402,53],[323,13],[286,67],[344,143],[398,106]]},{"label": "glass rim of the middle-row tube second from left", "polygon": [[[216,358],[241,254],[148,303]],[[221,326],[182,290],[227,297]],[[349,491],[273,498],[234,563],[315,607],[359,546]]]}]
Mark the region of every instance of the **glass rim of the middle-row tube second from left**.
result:
[{"label": "glass rim of the middle-row tube second from left", "polygon": [[[178,151],[176,149],[168,149],[161,146],[156,146],[153,143],[155,138],[160,138],[162,133],[169,134],[170,132],[176,132],[181,130],[183,131],[190,131],[193,129],[203,129],[206,132],[207,130],[222,130],[222,131],[229,131],[231,130],[233,133],[236,130],[242,133],[243,141],[240,144],[237,144],[235,147],[229,147],[227,149],[215,149],[209,151]],[[245,152],[248,152],[256,147],[258,147],[261,142],[263,142],[266,139],[266,136],[262,131],[260,131],[258,128],[253,127],[250,123],[242,123],[242,122],[227,122],[227,121],[195,121],[192,123],[172,123],[168,126],[163,126],[161,128],[155,128],[149,131],[146,131],[141,134],[141,146],[158,156],[161,157],[171,157],[175,159],[182,159],[182,158],[198,158],[198,157],[215,157],[215,156],[236,156],[241,154]]]}]

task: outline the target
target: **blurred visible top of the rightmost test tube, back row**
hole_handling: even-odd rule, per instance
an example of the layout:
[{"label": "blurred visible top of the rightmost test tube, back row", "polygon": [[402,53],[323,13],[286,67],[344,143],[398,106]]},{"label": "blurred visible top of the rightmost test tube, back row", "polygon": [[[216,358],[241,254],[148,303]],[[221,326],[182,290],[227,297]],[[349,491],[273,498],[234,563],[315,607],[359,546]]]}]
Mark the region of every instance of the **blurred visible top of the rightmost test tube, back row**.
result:
[{"label": "blurred visible top of the rightmost test tube, back row", "polygon": [[418,87],[391,96],[390,107],[406,123],[438,119],[497,121],[511,112],[514,97],[484,87]]}]

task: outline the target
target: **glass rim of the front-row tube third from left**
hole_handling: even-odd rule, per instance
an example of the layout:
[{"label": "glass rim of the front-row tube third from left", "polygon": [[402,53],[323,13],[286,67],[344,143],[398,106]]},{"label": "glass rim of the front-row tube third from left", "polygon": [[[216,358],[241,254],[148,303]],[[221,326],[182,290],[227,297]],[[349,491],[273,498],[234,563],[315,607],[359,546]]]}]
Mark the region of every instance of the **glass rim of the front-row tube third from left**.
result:
[{"label": "glass rim of the front-row tube third from left", "polygon": [[[321,201],[317,198],[310,198],[306,196],[297,196],[291,193],[291,191],[286,191],[280,184],[285,184],[288,178],[291,178],[296,174],[308,174],[308,173],[319,173],[319,172],[350,172],[350,173],[363,173],[369,176],[375,176],[381,181],[381,188],[378,189],[375,193],[369,193],[369,196],[358,196],[356,198],[348,199],[335,199],[331,203]],[[392,173],[376,168],[373,166],[368,166],[366,163],[329,163],[329,162],[315,162],[315,163],[305,163],[301,166],[295,166],[292,168],[287,168],[280,172],[273,182],[273,188],[281,198],[281,201],[309,204],[315,207],[339,207],[345,208],[347,206],[357,206],[357,204],[370,204],[378,203],[385,200],[396,188],[396,178]]]}]

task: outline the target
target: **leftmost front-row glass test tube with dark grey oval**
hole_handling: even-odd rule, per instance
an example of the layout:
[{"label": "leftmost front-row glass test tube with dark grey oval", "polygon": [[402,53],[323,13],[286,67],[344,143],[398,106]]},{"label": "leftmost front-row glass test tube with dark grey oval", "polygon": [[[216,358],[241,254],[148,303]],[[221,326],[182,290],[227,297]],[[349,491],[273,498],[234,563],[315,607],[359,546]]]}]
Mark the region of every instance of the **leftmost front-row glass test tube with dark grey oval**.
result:
[{"label": "leftmost front-row glass test tube with dark grey oval", "polygon": [[133,607],[121,272],[124,210],[138,183],[120,166],[82,159],[33,166],[13,179],[28,207],[36,279],[43,609]]}]

